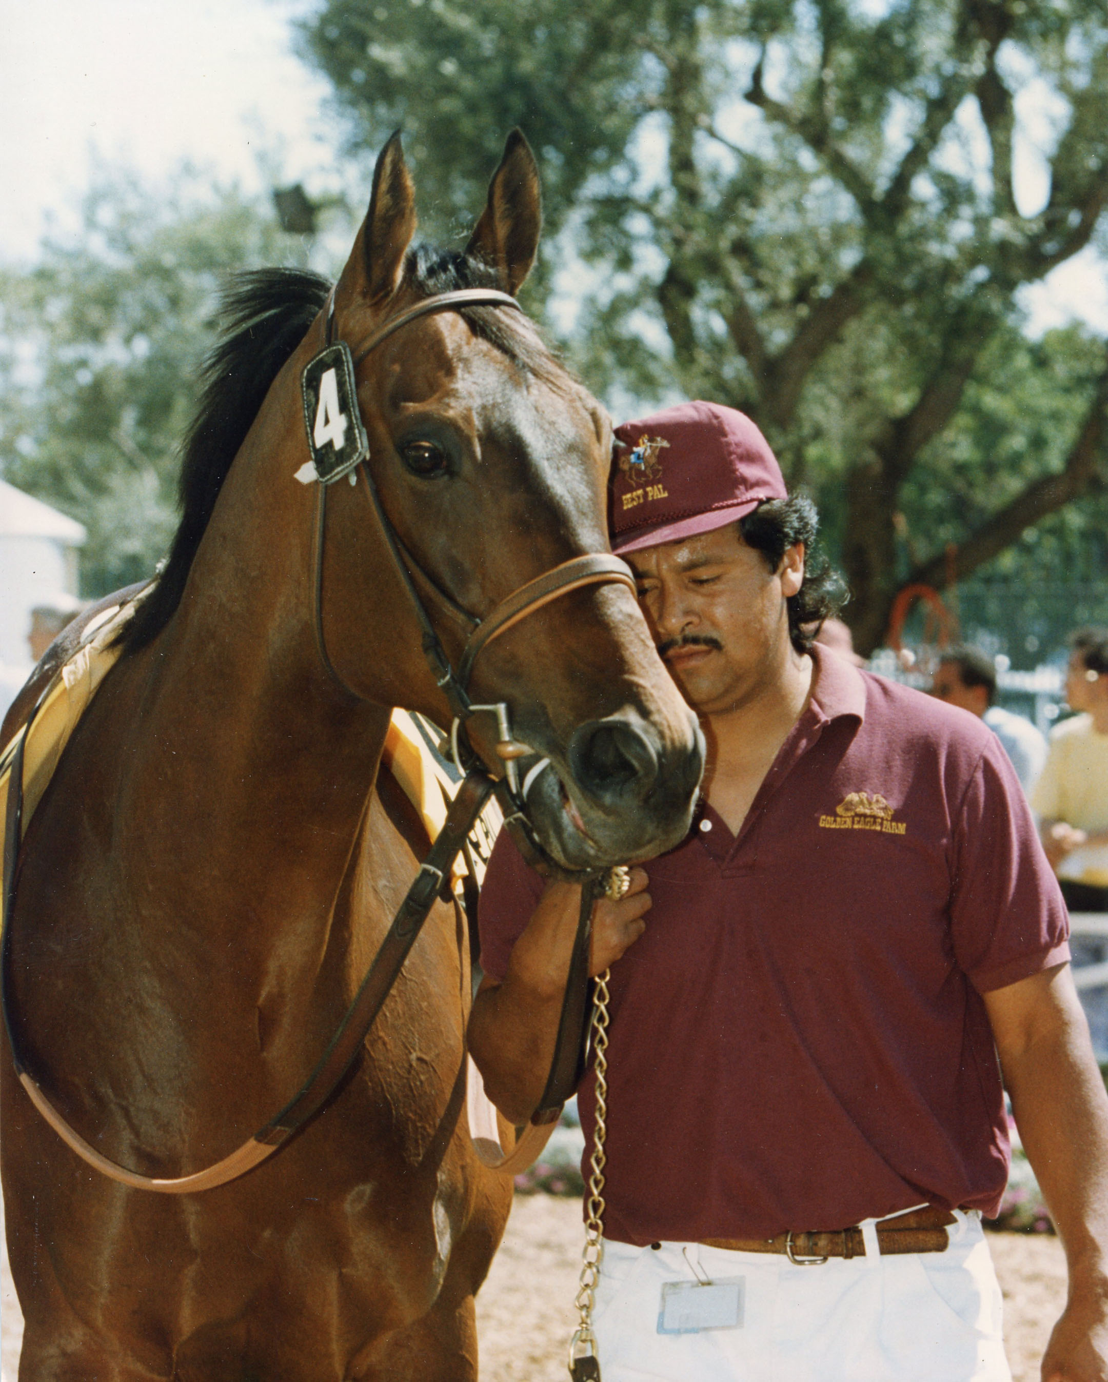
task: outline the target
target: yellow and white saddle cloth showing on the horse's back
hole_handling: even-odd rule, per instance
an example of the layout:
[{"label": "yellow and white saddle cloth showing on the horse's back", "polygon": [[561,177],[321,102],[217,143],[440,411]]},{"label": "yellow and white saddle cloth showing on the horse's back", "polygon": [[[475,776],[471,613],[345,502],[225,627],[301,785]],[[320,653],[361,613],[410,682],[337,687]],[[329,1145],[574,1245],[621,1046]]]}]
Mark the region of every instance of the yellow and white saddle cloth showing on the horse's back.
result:
[{"label": "yellow and white saddle cloth showing on the horse's back", "polygon": [[[120,650],[112,647],[116,634],[135,611],[137,601],[113,605],[102,611],[86,629],[79,651],[54,679],[46,701],[35,716],[23,750],[23,829],[43,799],[54,770],[77,727],[84,709],[99,690],[105,676],[119,661]],[[4,745],[0,753],[0,840],[7,818],[11,760],[26,727]],[[406,710],[394,710],[384,741],[381,761],[397,779],[405,796],[420,813],[428,836],[434,840],[446,821],[446,803],[455,795],[455,785],[435,761]],[[500,810],[490,803],[484,811],[489,839],[500,826]],[[477,882],[481,883],[484,861],[474,851]],[[450,878],[455,884],[468,872],[463,855],[455,862]]]}]

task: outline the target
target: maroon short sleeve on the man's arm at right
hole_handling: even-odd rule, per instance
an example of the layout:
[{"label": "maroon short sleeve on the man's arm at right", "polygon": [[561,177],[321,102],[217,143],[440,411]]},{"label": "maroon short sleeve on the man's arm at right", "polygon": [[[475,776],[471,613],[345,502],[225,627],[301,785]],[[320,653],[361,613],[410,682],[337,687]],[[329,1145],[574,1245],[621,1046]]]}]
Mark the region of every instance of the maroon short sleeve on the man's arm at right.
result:
[{"label": "maroon short sleeve on the man's arm at right", "polygon": [[955,958],[978,992],[1069,959],[1069,918],[1024,793],[997,744],[982,753],[955,826]]}]

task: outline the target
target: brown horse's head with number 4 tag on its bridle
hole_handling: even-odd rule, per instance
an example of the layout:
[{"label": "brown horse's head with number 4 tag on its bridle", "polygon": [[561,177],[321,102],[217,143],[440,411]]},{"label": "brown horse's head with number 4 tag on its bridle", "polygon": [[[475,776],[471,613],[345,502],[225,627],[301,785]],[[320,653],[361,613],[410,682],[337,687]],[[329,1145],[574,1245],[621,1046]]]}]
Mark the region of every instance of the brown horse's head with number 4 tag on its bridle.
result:
[{"label": "brown horse's head with number 4 tag on its bridle", "polygon": [[[431,296],[519,289],[540,229],[539,177],[522,135],[508,138],[463,254],[410,249],[414,228],[412,180],[394,135],[377,162],[333,318],[305,343],[314,351],[325,339],[350,347],[369,446],[363,467],[326,486],[326,656],[336,680],[358,695],[449,724],[457,683],[424,659],[430,623],[464,695],[507,705],[515,746],[499,748],[515,763],[531,822],[560,865],[669,849],[688,829],[702,744],[618,565],[566,568],[573,579],[544,603],[532,589],[518,619],[502,604],[573,558],[609,551],[604,409],[508,304],[452,304],[374,343],[385,323]],[[297,359],[303,368],[301,352]],[[334,391],[334,380],[327,387]],[[322,398],[314,387],[307,408],[321,464],[354,426],[341,391]],[[307,438],[304,446],[307,456]],[[311,477],[309,466],[305,488],[321,491]],[[496,636],[481,645],[490,615]],[[486,630],[475,634],[482,621]],[[503,773],[495,714],[474,713],[466,732]]]}]

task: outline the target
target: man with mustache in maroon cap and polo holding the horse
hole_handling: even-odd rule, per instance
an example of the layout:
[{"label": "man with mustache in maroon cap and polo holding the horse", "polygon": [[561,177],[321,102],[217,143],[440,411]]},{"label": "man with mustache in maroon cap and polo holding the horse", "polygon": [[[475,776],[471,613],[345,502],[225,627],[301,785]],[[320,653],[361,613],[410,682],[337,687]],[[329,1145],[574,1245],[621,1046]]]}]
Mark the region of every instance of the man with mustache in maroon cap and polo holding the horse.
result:
[{"label": "man with mustache in maroon cap and polo holding the horse", "polygon": [[[814,643],[834,611],[815,511],[750,419],[684,404],[616,435],[612,546],[709,752],[687,840],[594,914],[604,1382],[1010,1378],[981,1233],[1002,1067],[1069,1263],[1043,1378],[1105,1382],[1108,1097],[1003,748]],[[515,1122],[577,901],[502,835],[470,1038]],[[580,1104],[591,1137],[591,1075]]]}]

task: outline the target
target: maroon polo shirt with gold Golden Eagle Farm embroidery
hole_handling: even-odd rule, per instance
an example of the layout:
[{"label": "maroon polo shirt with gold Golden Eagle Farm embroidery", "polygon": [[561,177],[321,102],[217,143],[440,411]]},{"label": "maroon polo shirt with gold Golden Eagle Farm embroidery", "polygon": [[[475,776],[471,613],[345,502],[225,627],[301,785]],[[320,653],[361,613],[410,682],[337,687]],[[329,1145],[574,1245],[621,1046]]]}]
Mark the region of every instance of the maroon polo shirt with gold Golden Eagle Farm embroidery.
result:
[{"label": "maroon polo shirt with gold Golden Eagle Farm embroidery", "polygon": [[[1058,884],[988,726],[812,655],[738,837],[705,806],[645,865],[647,930],[612,967],[609,1238],[997,1212],[1009,1139],[981,995],[1069,958]],[[502,833],[481,894],[495,981],[542,889]],[[591,1137],[591,1072],[580,1108]]]}]

